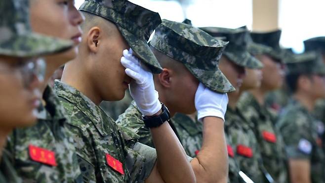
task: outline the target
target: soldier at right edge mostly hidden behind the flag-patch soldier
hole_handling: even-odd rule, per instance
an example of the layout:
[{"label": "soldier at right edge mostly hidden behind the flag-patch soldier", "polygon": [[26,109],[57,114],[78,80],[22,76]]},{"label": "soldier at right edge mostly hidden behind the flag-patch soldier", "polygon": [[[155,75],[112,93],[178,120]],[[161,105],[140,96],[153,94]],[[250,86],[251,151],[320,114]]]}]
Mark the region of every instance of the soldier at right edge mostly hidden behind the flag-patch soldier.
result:
[{"label": "soldier at right edge mostly hidden behind the flag-patch soldier", "polygon": [[[318,51],[322,54],[325,63],[325,37],[316,37],[304,41],[305,51]],[[316,102],[313,115],[317,121],[317,132],[323,142],[323,150],[325,151],[325,99],[319,99]]]}]

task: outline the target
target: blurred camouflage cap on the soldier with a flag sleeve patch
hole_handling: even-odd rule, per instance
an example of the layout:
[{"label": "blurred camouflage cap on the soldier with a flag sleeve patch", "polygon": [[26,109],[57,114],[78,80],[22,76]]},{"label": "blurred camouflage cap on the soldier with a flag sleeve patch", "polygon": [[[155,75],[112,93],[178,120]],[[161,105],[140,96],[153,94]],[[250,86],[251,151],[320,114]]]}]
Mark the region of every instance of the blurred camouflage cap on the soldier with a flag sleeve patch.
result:
[{"label": "blurred camouflage cap on the soldier with a flag sleeve patch", "polygon": [[325,75],[325,64],[319,52],[309,51],[293,55],[291,62],[286,63],[287,74],[319,74]]}]

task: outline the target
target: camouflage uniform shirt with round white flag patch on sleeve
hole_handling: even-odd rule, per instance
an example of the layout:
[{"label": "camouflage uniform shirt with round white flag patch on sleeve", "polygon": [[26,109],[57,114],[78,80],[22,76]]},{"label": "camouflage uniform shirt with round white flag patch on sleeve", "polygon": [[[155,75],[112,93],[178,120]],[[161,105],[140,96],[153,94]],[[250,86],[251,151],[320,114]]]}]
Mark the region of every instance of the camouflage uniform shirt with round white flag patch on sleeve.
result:
[{"label": "camouflage uniform shirt with round white flag patch on sleeve", "polygon": [[292,99],[280,116],[278,127],[284,137],[289,158],[311,163],[312,183],[325,182],[325,155],[317,133],[317,123],[308,110]]}]

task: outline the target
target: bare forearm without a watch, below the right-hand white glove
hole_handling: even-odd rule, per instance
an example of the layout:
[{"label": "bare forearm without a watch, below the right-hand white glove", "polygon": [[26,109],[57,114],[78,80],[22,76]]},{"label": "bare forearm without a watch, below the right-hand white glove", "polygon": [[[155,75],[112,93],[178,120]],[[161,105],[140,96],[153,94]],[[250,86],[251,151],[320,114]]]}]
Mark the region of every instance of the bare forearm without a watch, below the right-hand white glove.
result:
[{"label": "bare forearm without a watch, below the right-hand white glove", "polygon": [[203,119],[202,148],[191,161],[198,183],[227,183],[228,155],[221,118]]}]

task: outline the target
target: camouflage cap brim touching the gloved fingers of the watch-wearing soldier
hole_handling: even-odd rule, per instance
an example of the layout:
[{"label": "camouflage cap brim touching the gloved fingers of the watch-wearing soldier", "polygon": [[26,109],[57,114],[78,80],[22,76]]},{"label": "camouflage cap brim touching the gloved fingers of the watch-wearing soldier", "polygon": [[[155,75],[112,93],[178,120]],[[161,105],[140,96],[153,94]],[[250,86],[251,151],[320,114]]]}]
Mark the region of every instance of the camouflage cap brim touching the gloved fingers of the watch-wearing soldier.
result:
[{"label": "camouflage cap brim touching the gloved fingers of the watch-wearing soldier", "polygon": [[162,67],[160,66],[154,53],[151,51],[148,43],[136,38],[126,29],[123,29],[118,25],[117,27],[128,45],[132,48],[134,53],[136,53],[136,56],[139,57],[150,68],[152,73],[160,74],[162,72]]}]

